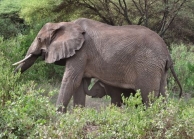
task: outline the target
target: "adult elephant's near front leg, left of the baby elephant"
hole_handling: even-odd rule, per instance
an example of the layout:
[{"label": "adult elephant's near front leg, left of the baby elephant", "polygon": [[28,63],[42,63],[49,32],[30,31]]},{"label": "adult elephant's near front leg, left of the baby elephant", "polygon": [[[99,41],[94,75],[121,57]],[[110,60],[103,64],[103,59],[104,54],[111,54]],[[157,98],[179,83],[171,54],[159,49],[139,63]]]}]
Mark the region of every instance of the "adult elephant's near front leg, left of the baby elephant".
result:
[{"label": "adult elephant's near front leg, left of the baby elephant", "polygon": [[82,77],[83,73],[81,71],[75,70],[72,66],[70,68],[66,66],[66,71],[62,79],[61,88],[56,103],[58,111],[66,112],[67,105],[69,104],[73,94],[78,90]]}]

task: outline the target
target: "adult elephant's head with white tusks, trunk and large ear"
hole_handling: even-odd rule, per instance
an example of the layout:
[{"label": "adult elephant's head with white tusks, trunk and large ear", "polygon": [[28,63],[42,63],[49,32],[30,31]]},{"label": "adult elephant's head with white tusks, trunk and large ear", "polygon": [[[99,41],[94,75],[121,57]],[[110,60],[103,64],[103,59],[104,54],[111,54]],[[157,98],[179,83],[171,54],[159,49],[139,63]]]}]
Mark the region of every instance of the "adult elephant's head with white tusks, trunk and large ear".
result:
[{"label": "adult elephant's head with white tusks, trunk and large ear", "polygon": [[65,65],[65,59],[73,56],[84,42],[84,30],[73,22],[46,23],[39,31],[25,58],[13,65],[19,65],[21,72],[28,69],[39,56],[46,63]]}]

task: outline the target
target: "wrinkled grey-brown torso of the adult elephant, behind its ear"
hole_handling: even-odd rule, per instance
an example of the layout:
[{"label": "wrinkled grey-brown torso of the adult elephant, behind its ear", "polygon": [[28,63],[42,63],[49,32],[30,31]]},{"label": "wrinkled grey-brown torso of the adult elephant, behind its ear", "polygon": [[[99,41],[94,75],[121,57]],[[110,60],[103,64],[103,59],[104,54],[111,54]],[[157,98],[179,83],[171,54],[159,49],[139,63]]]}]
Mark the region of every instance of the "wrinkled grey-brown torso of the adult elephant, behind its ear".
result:
[{"label": "wrinkled grey-brown torso of the adult elephant, behind its ear", "polygon": [[142,26],[85,26],[86,73],[103,82],[123,88],[135,88],[141,73],[164,70],[169,53],[164,41]]}]

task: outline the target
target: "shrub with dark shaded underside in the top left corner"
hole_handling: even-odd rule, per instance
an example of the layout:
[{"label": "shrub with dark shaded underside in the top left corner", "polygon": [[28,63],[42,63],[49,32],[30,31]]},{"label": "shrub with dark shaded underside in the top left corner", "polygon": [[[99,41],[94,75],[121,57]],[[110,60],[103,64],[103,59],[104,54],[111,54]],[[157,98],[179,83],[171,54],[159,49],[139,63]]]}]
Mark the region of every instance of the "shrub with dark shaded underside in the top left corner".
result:
[{"label": "shrub with dark shaded underside in the top left corner", "polygon": [[24,33],[28,26],[19,16],[21,0],[1,0],[0,3],[0,36],[9,39]]}]

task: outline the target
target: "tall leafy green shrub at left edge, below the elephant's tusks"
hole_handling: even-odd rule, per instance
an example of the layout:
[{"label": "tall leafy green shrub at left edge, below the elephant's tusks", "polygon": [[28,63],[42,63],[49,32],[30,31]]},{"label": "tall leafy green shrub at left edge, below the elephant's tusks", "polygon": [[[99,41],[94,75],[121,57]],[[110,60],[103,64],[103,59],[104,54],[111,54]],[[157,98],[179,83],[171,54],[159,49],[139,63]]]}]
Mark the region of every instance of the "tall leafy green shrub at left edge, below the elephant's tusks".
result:
[{"label": "tall leafy green shrub at left edge, below the elephant's tusks", "polygon": [[[36,124],[52,118],[54,107],[44,90],[33,82],[19,80],[11,63],[0,53],[0,138],[25,138]],[[54,111],[55,112],[55,111]]]}]

